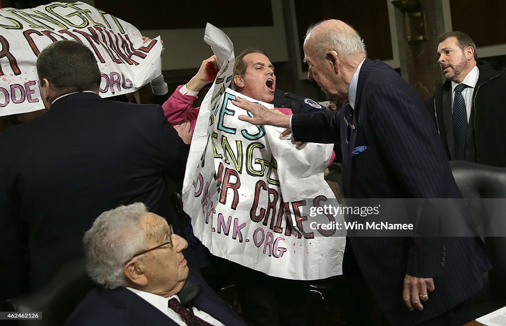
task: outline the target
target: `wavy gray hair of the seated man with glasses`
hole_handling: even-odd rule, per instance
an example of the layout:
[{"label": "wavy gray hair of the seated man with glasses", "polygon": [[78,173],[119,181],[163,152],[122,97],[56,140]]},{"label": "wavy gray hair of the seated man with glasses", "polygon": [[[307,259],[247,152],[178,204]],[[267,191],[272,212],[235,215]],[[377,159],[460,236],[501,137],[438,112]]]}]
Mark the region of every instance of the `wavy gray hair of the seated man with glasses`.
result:
[{"label": "wavy gray hair of the seated man with glasses", "polygon": [[85,233],[86,269],[94,282],[107,289],[128,285],[123,268],[143,248],[145,232],[139,219],[146,212],[141,202],[119,206],[100,214]]}]

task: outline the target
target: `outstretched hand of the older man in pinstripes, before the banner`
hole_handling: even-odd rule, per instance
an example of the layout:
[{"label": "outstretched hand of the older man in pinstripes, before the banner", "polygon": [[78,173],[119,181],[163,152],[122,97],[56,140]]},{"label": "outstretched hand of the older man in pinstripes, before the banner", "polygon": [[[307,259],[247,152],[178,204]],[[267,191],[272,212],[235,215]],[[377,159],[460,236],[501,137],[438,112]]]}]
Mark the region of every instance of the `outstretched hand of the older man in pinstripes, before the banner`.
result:
[{"label": "outstretched hand of the older man in pinstripes, before the banner", "polygon": [[249,122],[252,125],[271,125],[286,129],[290,128],[290,116],[277,114],[274,110],[269,110],[262,104],[254,103],[240,97],[235,97],[232,104],[243,108],[253,115],[253,117],[241,115],[238,117],[239,120]]}]

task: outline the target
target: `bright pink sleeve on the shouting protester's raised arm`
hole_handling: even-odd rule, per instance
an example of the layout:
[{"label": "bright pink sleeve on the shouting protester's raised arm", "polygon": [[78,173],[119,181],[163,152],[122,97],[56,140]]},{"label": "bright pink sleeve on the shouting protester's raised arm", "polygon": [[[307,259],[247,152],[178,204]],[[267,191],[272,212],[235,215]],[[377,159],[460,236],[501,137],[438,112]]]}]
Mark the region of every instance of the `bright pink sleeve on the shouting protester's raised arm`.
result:
[{"label": "bright pink sleeve on the shouting protester's raised arm", "polygon": [[197,96],[183,95],[179,89],[183,85],[178,86],[176,91],[169,97],[165,103],[161,106],[163,113],[167,117],[167,121],[171,125],[176,125],[186,119],[191,123],[191,131],[195,130],[195,124],[197,123],[198,112],[200,107],[191,107],[193,102],[197,99]]}]

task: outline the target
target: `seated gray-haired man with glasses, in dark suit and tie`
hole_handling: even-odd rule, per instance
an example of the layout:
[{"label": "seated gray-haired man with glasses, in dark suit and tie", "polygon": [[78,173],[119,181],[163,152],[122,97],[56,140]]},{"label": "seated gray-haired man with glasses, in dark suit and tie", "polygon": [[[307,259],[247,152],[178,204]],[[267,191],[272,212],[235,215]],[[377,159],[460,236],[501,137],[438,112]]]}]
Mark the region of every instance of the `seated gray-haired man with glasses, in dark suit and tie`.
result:
[{"label": "seated gray-haired man with glasses, in dark suit and tie", "polygon": [[[93,289],[67,325],[244,325],[186,264],[186,240],[143,203],[102,213],[83,238]],[[191,281],[190,281],[191,280]]]}]

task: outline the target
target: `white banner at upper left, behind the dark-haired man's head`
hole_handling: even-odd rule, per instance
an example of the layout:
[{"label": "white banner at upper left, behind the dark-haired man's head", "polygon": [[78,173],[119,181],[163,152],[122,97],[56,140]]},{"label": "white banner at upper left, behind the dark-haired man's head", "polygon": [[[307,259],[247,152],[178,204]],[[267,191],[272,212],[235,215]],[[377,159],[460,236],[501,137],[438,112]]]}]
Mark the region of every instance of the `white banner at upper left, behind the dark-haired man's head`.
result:
[{"label": "white banner at upper left, behind the dark-haired man's head", "polygon": [[132,24],[85,3],[51,3],[32,9],[0,10],[0,116],[44,108],[35,63],[58,40],[92,49],[102,83],[100,96],[133,92],[161,73],[161,43],[142,44]]}]

